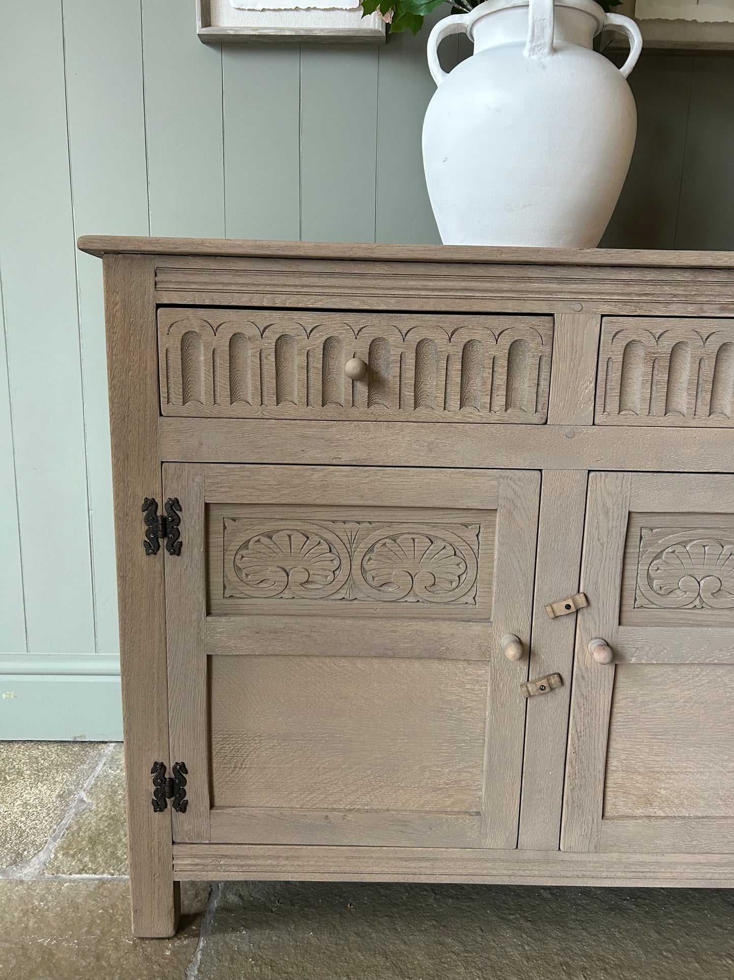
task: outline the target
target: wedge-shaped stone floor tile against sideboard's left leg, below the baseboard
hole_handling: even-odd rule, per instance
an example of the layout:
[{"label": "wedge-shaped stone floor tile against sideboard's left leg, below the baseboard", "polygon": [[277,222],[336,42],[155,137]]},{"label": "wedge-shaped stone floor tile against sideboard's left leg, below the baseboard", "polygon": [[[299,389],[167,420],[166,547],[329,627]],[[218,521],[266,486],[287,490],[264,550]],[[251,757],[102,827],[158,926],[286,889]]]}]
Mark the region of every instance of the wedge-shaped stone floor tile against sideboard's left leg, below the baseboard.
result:
[{"label": "wedge-shaped stone floor tile against sideboard's left leg, below the baseboard", "polygon": [[122,745],[85,793],[88,805],[69,821],[46,874],[127,874],[127,826]]}]

